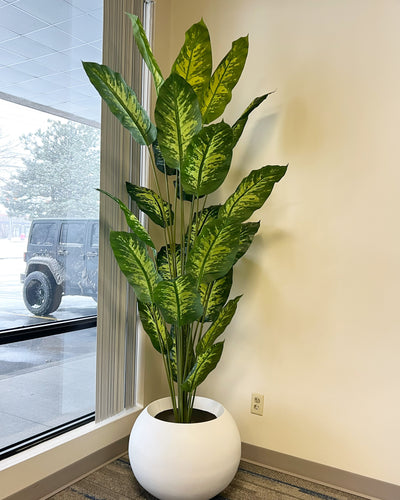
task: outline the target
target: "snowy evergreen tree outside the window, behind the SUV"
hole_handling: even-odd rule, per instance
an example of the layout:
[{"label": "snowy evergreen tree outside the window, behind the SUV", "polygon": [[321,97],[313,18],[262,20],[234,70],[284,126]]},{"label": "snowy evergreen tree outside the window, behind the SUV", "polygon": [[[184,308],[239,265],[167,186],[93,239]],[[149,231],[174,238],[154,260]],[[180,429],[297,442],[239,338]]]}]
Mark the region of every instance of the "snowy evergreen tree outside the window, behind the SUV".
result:
[{"label": "snowy evergreen tree outside the window, behind the SUV", "polygon": [[24,168],[2,188],[13,217],[98,217],[100,131],[72,121],[49,120],[48,128],[20,138]]}]

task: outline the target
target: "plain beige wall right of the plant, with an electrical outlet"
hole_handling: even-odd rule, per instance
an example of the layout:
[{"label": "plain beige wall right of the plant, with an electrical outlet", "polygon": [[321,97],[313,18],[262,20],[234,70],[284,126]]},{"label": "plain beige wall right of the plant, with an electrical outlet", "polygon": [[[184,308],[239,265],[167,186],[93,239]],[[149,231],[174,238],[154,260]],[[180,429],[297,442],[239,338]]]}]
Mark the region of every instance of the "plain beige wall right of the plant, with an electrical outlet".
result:
[{"label": "plain beige wall right of the plant, with an electrical outlet", "polygon": [[[236,270],[244,292],[201,393],[242,440],[400,484],[400,3],[158,0],[163,71],[201,17],[218,63],[249,34],[229,112],[252,116],[221,199],[265,164],[289,163],[256,214]],[[249,413],[265,395],[264,416]]]}]

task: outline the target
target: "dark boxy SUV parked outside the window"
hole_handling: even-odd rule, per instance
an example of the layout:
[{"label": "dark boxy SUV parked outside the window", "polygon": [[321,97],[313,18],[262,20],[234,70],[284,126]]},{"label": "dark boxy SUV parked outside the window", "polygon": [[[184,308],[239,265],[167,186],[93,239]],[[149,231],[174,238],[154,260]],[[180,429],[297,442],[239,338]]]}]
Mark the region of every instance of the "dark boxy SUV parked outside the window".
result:
[{"label": "dark boxy SUV parked outside the window", "polygon": [[54,312],[63,295],[85,295],[97,300],[99,221],[34,220],[24,260],[23,297],[33,314]]}]

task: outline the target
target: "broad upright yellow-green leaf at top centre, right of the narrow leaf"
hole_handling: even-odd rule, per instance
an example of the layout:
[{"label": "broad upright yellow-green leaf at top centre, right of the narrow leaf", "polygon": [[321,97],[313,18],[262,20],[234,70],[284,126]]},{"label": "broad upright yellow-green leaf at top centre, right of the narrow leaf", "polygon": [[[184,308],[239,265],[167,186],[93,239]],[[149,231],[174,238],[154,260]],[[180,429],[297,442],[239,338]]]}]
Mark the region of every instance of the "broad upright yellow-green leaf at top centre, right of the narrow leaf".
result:
[{"label": "broad upright yellow-green leaf at top centre, right of the narrow leaf", "polygon": [[212,54],[210,35],[204,21],[193,24],[185,33],[185,43],[172,66],[172,72],[184,78],[201,95],[210,81]]}]

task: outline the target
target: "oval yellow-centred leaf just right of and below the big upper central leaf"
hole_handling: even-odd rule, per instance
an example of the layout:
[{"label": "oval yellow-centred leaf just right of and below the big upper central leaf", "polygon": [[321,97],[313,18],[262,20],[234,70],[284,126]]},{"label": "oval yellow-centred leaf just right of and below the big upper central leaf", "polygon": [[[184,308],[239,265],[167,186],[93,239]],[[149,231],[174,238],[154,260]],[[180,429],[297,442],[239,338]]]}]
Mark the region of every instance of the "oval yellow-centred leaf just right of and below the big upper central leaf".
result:
[{"label": "oval yellow-centred leaf just right of and below the big upper central leaf", "polygon": [[210,194],[223,183],[232,160],[232,129],[224,122],[204,127],[190,141],[181,165],[186,193]]}]

